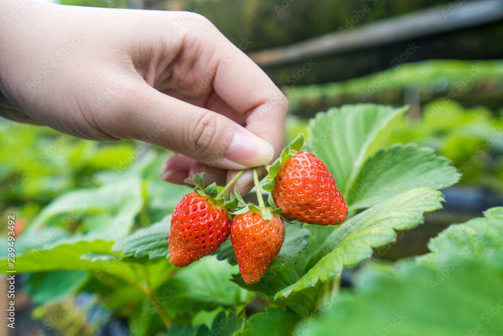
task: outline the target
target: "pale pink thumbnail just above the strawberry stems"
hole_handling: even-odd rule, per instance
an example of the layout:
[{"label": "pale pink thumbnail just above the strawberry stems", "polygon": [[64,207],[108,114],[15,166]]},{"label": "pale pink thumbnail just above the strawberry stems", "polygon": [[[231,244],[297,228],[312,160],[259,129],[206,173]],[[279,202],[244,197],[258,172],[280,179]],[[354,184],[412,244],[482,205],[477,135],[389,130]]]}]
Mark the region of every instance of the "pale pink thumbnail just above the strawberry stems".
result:
[{"label": "pale pink thumbnail just above the strawberry stems", "polygon": [[270,143],[249,131],[236,130],[227,152],[227,159],[246,167],[258,167],[269,163],[274,157]]}]

